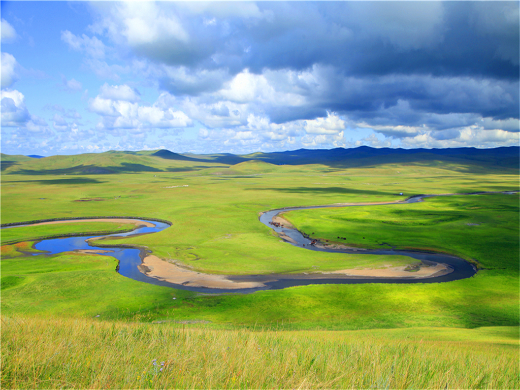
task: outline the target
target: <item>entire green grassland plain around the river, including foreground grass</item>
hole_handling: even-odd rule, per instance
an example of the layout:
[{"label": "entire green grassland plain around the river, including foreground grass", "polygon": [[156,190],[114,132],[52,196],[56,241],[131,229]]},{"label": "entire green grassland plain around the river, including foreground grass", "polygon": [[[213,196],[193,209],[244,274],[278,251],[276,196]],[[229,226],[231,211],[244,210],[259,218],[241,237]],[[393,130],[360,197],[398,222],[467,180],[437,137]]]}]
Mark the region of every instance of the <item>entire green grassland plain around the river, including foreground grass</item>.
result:
[{"label": "entire green grassland plain around the river, including foreground grass", "polygon": [[[114,242],[219,274],[413,269],[414,259],[404,256],[295,248],[258,222],[262,211],[518,189],[517,167],[446,161],[230,165],[151,152],[3,160],[11,163],[3,164],[2,223],[166,219],[172,226],[159,233]],[[479,271],[448,283],[311,285],[248,295],[126,279],[108,256],[24,256],[40,237],[128,226],[2,230],[0,385],[518,388],[518,215],[517,193],[291,212],[285,217],[298,229],[322,240],[446,252]]]}]

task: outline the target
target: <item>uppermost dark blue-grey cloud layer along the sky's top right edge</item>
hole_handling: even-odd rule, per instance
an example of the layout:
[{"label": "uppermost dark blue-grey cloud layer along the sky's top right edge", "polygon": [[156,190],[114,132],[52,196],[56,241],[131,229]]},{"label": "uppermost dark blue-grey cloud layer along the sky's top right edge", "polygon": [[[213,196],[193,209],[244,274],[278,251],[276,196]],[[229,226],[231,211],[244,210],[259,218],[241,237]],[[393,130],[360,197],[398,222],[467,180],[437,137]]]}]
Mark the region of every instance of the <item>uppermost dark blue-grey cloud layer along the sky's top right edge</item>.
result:
[{"label": "uppermost dark blue-grey cloud layer along the sky's top right edge", "polygon": [[358,76],[519,76],[517,2],[268,2],[245,16],[224,4],[162,3],[184,34],[131,45],[170,66],[231,74],[320,63]]}]

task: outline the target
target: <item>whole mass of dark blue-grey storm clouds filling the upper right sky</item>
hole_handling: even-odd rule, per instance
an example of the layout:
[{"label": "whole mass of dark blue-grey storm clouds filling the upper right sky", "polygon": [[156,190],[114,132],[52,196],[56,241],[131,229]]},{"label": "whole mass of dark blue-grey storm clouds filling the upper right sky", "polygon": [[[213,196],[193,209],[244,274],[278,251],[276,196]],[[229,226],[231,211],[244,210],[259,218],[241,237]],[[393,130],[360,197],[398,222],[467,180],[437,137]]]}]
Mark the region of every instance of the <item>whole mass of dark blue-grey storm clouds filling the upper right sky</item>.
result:
[{"label": "whole mass of dark blue-grey storm clouds filling the upper right sky", "polygon": [[[305,103],[270,101],[258,107],[275,123],[333,111],[374,126],[426,124],[447,131],[471,125],[479,116],[495,121],[520,116],[518,2],[157,7],[156,14],[150,11],[147,29],[139,27],[133,35],[129,14],[120,13],[119,22],[106,25],[120,23],[120,35],[134,53],[166,69],[159,86],[176,96],[218,101],[210,95],[239,72],[279,70],[269,76],[269,85],[277,92],[290,90]],[[169,30],[155,36],[155,20]],[[141,30],[153,39],[141,40],[136,35]],[[289,79],[283,72],[306,72],[313,81]]]}]

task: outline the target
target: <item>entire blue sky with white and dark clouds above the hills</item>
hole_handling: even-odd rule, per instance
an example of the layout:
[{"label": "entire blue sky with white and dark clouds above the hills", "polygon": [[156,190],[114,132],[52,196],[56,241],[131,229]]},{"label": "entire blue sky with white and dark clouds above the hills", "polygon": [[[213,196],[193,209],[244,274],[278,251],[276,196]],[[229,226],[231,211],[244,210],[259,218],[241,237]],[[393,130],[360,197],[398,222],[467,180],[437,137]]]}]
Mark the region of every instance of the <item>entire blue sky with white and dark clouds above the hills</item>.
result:
[{"label": "entire blue sky with white and dark clouds above the hills", "polygon": [[520,142],[518,2],[0,4],[2,153]]}]

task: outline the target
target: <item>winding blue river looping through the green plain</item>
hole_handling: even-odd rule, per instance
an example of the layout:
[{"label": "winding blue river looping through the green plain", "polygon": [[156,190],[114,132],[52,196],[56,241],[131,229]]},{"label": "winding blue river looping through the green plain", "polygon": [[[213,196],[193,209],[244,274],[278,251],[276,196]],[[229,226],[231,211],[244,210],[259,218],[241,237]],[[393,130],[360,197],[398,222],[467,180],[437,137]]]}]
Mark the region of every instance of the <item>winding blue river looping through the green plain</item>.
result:
[{"label": "winding blue river looping through the green plain", "polygon": [[[513,193],[518,191],[509,191],[503,193]],[[496,193],[496,192],[474,192],[474,193],[465,193],[464,195],[472,195],[472,194],[485,194],[485,193]],[[407,204],[420,202],[422,199],[427,197],[435,197],[435,196],[449,196],[449,195],[462,195],[462,194],[441,194],[441,195],[417,195],[410,197],[404,201],[397,202],[386,202],[386,203],[377,203],[381,204]],[[112,246],[105,245],[104,243],[99,243],[98,245],[91,243],[92,239],[96,239],[99,237],[128,237],[142,234],[149,234],[154,232],[159,232],[164,230],[170,226],[170,224],[165,222],[158,222],[157,220],[145,220],[145,219],[137,219],[134,218],[138,222],[148,223],[149,226],[141,225],[134,229],[131,232],[126,233],[114,233],[111,235],[103,235],[103,236],[80,236],[80,237],[67,237],[67,238],[53,238],[53,239],[45,239],[39,242],[36,242],[34,248],[40,251],[45,251],[46,254],[57,254],[61,252],[69,252],[69,251],[95,251],[100,255],[108,255],[115,257],[119,261],[118,272],[127,277],[134,280],[162,285],[166,287],[171,287],[175,289],[181,290],[190,290],[201,293],[251,293],[259,290],[269,290],[269,289],[284,289],[288,287],[293,287],[297,285],[309,285],[309,284],[355,284],[355,283],[437,283],[437,282],[448,282],[452,280],[459,280],[464,278],[469,278],[476,273],[476,269],[470,263],[464,261],[463,259],[455,256],[450,256],[446,254],[438,254],[438,253],[426,253],[426,252],[418,252],[418,251],[400,251],[393,249],[384,249],[384,250],[360,250],[360,249],[332,249],[326,248],[324,245],[315,245],[312,244],[311,239],[303,235],[300,231],[294,228],[275,226],[272,224],[273,218],[278,216],[280,213],[295,211],[295,210],[308,210],[308,209],[320,209],[325,207],[353,207],[353,206],[368,206],[371,204],[367,203],[358,203],[358,204],[333,204],[333,205],[324,205],[324,206],[304,206],[304,207],[287,207],[284,209],[276,209],[270,210],[263,213],[259,217],[259,222],[268,226],[271,229],[274,229],[280,237],[285,241],[294,246],[298,246],[302,249],[311,250],[311,251],[321,251],[321,252],[335,252],[335,253],[363,253],[363,254],[375,254],[375,255],[405,255],[415,259],[422,261],[425,264],[434,264],[441,263],[448,266],[451,272],[448,274],[433,276],[424,279],[415,279],[415,278],[370,278],[370,277],[353,277],[341,274],[310,274],[310,275],[228,275],[227,279],[235,281],[235,282],[256,282],[261,283],[262,287],[255,288],[240,288],[240,289],[225,289],[225,288],[207,288],[207,287],[193,287],[186,284],[177,284],[170,283],[167,281],[159,280],[157,278],[149,277],[140,271],[139,268],[142,269],[141,263],[142,260],[150,254],[150,251],[140,248],[128,248],[124,246]],[[128,219],[128,218],[127,218]],[[43,222],[43,221],[42,221]],[[66,222],[66,221],[63,221]],[[150,225],[153,225],[151,227]],[[24,224],[19,225],[11,225],[5,226],[4,228],[14,228],[17,226],[24,226]],[[40,255],[40,254],[34,254]],[[411,274],[413,275],[413,274]]]}]

